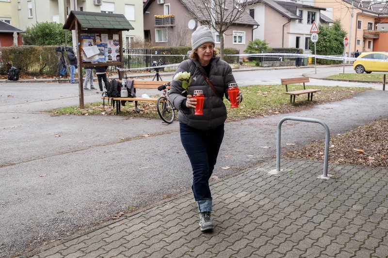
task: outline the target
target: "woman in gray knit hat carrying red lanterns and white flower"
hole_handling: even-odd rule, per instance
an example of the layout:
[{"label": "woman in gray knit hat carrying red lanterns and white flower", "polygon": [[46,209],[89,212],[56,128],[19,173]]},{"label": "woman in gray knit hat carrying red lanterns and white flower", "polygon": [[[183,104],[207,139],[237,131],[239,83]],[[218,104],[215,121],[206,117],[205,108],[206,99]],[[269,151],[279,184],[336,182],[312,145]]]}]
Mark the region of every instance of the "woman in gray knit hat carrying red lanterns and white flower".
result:
[{"label": "woman in gray knit hat carrying red lanterns and white flower", "polygon": [[[193,32],[190,59],[182,61],[176,71],[176,75],[180,72],[190,73],[190,80],[184,83],[173,80],[169,92],[170,100],[179,110],[180,139],[193,169],[192,190],[202,231],[214,228],[210,219],[212,197],[209,179],[224,138],[226,106],[223,96],[228,99],[228,84],[236,82],[232,69],[228,63],[220,60],[214,45],[213,35],[205,26]],[[193,113],[196,105],[194,90],[202,90],[205,96],[201,116]],[[238,103],[241,100],[239,91]]]}]

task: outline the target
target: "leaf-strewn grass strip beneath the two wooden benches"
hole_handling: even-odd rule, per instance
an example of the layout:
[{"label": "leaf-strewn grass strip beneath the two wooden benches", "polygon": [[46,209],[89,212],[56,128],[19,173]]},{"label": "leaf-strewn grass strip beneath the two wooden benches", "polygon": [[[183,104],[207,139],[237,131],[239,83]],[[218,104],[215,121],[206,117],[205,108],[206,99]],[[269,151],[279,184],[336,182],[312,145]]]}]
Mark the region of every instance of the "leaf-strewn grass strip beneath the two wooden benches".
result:
[{"label": "leaf-strewn grass strip beneath the two wooden benches", "polygon": [[[266,117],[280,113],[289,113],[303,110],[317,104],[323,104],[330,101],[352,98],[356,93],[366,91],[368,88],[352,87],[325,87],[309,86],[310,89],[321,89],[314,93],[313,101],[307,101],[307,94],[297,96],[295,105],[290,104],[289,95],[284,94],[285,87],[281,85],[255,85],[241,87],[243,101],[239,108],[228,109],[228,120],[242,120],[255,117]],[[289,85],[289,91],[302,90],[303,85]],[[224,99],[226,107],[230,103]],[[142,117],[148,119],[160,119],[156,110],[155,103],[139,102],[140,113],[134,111],[134,103],[127,102],[126,106],[121,107],[119,116],[130,118]],[[49,110],[54,116],[58,115],[115,115],[115,108],[111,105],[102,105],[102,102],[85,105],[84,109],[79,106],[69,106]]]}]

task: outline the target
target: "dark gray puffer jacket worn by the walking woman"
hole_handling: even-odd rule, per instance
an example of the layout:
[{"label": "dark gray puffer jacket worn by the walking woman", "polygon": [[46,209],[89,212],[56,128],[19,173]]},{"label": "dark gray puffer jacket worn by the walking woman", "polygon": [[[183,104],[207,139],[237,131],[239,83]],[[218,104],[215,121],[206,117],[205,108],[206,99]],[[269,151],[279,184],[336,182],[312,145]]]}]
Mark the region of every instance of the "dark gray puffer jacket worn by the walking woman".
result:
[{"label": "dark gray puffer jacket worn by the walking woman", "polygon": [[[226,98],[229,99],[227,95],[228,84],[236,82],[232,74],[232,69],[227,62],[220,60],[219,57],[212,58],[210,62],[210,82],[222,97],[225,95]],[[210,88],[209,84],[205,80],[205,77],[200,71],[206,74],[205,70],[202,68],[198,61],[189,59],[182,61],[179,64],[175,74],[179,72],[189,72],[191,76],[193,76],[192,82],[188,89],[188,94],[193,95],[194,90],[203,91],[205,95],[205,101],[202,116],[194,116],[193,108],[188,108],[186,105],[184,105],[186,103],[185,100],[187,99],[187,93],[182,94],[184,89],[182,88],[181,81],[173,80],[171,82],[171,90],[168,96],[170,101],[179,110],[178,120],[180,122],[183,122],[196,129],[209,130],[221,125],[226,121],[226,106],[223,102],[223,99],[217,96]]]}]

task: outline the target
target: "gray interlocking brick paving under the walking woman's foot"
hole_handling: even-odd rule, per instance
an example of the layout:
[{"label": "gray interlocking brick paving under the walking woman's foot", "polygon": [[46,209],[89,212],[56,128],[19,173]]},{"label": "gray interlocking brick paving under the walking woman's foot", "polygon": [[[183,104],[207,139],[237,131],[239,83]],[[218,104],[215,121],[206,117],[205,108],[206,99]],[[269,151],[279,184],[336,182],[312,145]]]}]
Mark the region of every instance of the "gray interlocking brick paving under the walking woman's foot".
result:
[{"label": "gray interlocking brick paving under the walking woman's foot", "polygon": [[[216,228],[192,194],[130,215],[34,258],[388,257],[388,169],[275,160],[211,185]],[[47,248],[47,247],[46,247]]]}]

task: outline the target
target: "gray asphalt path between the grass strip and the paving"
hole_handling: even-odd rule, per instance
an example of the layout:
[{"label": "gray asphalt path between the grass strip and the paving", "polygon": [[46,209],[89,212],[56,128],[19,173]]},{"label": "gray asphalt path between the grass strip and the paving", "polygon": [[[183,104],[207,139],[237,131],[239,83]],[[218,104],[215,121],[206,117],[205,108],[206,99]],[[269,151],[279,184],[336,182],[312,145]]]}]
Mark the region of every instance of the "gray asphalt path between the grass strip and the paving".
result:
[{"label": "gray asphalt path between the grass strip and the paving", "polygon": [[[76,86],[0,83],[0,257],[191,189],[178,122],[41,112],[78,105]],[[85,102],[99,96],[88,91]],[[274,159],[276,125],[284,116],[321,119],[335,135],[387,117],[387,98],[387,91],[367,91],[299,113],[227,122],[214,176]],[[324,138],[319,124],[282,126],[282,150],[317,138]]]}]

